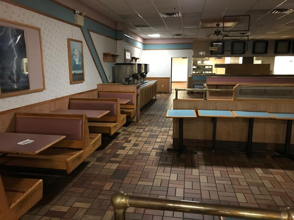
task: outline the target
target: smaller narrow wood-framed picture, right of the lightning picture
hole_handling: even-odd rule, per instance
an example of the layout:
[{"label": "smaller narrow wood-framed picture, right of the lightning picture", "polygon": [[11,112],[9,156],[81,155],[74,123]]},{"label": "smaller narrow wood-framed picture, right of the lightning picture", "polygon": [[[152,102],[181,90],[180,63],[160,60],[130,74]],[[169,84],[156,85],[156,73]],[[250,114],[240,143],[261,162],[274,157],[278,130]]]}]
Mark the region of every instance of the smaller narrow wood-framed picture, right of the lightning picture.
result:
[{"label": "smaller narrow wood-framed picture, right of the lightning picture", "polygon": [[[72,48],[73,46],[75,46],[75,48]],[[83,42],[68,38],[67,51],[70,83],[85,82]],[[73,63],[73,61],[75,61],[75,63]]]}]

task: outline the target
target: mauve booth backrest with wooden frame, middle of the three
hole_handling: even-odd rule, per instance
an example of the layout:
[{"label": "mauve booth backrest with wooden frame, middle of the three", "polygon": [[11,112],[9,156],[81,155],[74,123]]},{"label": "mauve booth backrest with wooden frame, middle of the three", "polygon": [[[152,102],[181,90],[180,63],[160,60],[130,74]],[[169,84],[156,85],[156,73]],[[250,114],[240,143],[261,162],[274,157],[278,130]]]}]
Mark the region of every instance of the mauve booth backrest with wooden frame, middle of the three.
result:
[{"label": "mauve booth backrest with wooden frame, middle of the three", "polygon": [[117,98],[70,98],[70,109],[108,110],[107,115],[97,119],[100,122],[119,122],[120,105]]}]

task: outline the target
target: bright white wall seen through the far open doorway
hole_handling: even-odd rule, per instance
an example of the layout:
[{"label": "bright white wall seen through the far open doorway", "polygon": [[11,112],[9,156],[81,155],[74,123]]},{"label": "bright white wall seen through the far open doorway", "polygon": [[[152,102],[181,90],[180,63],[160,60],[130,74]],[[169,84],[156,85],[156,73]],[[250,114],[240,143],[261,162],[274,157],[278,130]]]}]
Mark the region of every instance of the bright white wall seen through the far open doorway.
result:
[{"label": "bright white wall seen through the far open doorway", "polygon": [[182,57],[172,58],[171,82],[187,82],[188,59]]}]

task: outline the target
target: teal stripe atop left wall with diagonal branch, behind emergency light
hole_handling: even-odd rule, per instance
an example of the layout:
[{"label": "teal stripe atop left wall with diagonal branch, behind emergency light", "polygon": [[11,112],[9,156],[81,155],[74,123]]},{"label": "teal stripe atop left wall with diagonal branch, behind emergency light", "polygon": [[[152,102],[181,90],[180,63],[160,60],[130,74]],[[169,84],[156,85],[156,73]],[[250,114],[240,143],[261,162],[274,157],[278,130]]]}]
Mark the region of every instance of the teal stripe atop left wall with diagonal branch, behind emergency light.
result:
[{"label": "teal stripe atop left wall with diagonal branch, behind emergency light", "polygon": [[[51,2],[50,0],[42,0],[42,1],[13,0],[13,1],[74,24],[74,12],[61,5]],[[88,29],[113,39],[116,39],[116,31],[88,18],[84,18],[84,25],[85,26],[82,27],[82,30],[84,32],[85,41],[89,45],[89,50],[94,57],[94,62],[101,75],[102,81],[108,82],[105,72],[103,71],[102,64],[99,61],[93,42],[90,38]]]}]

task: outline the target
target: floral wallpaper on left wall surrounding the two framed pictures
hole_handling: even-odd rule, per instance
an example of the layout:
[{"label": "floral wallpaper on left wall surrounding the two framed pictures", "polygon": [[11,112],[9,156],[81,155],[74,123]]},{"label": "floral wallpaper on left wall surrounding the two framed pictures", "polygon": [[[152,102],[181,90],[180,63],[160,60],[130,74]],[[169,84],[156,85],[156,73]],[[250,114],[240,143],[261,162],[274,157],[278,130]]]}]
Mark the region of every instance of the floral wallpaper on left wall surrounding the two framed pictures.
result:
[{"label": "floral wallpaper on left wall surrounding the two framed pictures", "polygon": [[[102,80],[82,35],[73,25],[0,1],[0,18],[41,28],[46,90],[0,99],[0,111],[95,89]],[[67,38],[83,41],[85,82],[70,84]],[[28,64],[29,65],[29,64]]]}]

